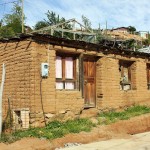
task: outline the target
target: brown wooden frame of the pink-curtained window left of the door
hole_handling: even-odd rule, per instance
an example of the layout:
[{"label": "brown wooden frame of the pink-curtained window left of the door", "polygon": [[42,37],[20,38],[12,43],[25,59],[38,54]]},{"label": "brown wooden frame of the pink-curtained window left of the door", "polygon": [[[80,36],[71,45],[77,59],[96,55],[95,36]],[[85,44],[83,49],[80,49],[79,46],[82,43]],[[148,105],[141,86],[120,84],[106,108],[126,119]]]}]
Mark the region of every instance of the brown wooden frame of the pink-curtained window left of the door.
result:
[{"label": "brown wooden frame of the pink-curtained window left of the door", "polygon": [[[56,59],[57,57],[61,57],[62,60],[62,78],[56,78],[56,74],[55,74],[55,78],[56,78],[56,83],[57,82],[62,82],[63,83],[63,88],[62,89],[57,89],[56,90],[76,90],[77,89],[77,56],[76,55],[71,55],[71,54],[57,54],[56,55]],[[67,57],[71,57],[73,59],[73,79],[67,79],[66,78],[66,58]],[[57,69],[57,68],[56,68]],[[66,89],[65,83],[74,83],[74,88],[73,89]]]}]

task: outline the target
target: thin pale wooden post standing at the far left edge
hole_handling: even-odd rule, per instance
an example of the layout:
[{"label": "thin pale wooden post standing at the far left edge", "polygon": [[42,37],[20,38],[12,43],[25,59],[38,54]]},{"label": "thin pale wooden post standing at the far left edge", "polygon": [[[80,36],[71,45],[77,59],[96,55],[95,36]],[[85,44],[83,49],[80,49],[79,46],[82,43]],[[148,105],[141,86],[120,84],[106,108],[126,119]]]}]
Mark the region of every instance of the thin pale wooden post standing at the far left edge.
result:
[{"label": "thin pale wooden post standing at the far left edge", "polygon": [[5,82],[5,64],[3,64],[3,70],[2,70],[2,82],[0,87],[0,137],[2,134],[2,96],[3,96],[3,88],[4,88],[4,82]]}]

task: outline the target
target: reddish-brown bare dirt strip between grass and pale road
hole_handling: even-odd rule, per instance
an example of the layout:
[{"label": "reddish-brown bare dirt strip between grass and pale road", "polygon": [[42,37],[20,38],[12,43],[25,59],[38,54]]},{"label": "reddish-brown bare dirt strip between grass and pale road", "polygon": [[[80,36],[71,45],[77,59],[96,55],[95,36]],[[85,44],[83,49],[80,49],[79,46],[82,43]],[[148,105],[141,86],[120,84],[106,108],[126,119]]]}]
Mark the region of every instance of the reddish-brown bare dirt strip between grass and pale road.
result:
[{"label": "reddish-brown bare dirt strip between grass and pale road", "polygon": [[147,131],[150,131],[150,114],[134,117],[130,120],[119,121],[111,125],[98,126],[88,133],[68,134],[65,137],[53,141],[24,138],[8,145],[0,143],[0,150],[54,150],[63,147],[65,143],[86,144],[95,141],[110,141],[110,139],[128,140],[132,138],[131,135],[133,134]]}]

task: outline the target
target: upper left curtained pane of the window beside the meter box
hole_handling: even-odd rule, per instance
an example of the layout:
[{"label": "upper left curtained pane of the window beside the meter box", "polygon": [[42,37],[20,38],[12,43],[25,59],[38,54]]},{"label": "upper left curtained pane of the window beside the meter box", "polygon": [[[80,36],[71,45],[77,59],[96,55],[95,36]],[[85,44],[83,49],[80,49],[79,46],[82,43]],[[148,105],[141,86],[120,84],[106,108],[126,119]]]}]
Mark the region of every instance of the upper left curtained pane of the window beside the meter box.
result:
[{"label": "upper left curtained pane of the window beside the meter box", "polygon": [[62,58],[56,56],[56,78],[62,78]]}]

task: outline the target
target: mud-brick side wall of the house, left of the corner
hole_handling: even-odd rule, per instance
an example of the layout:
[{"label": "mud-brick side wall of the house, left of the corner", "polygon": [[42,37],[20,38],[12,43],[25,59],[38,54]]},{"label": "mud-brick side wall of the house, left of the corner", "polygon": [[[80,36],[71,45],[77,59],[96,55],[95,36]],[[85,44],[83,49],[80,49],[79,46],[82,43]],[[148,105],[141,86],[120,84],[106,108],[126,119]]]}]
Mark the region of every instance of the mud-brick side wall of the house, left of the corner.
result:
[{"label": "mud-brick side wall of the house, left of the corner", "polygon": [[6,67],[3,93],[3,117],[10,108],[30,108],[32,79],[32,42],[30,40],[0,43],[0,82],[2,63]]}]

